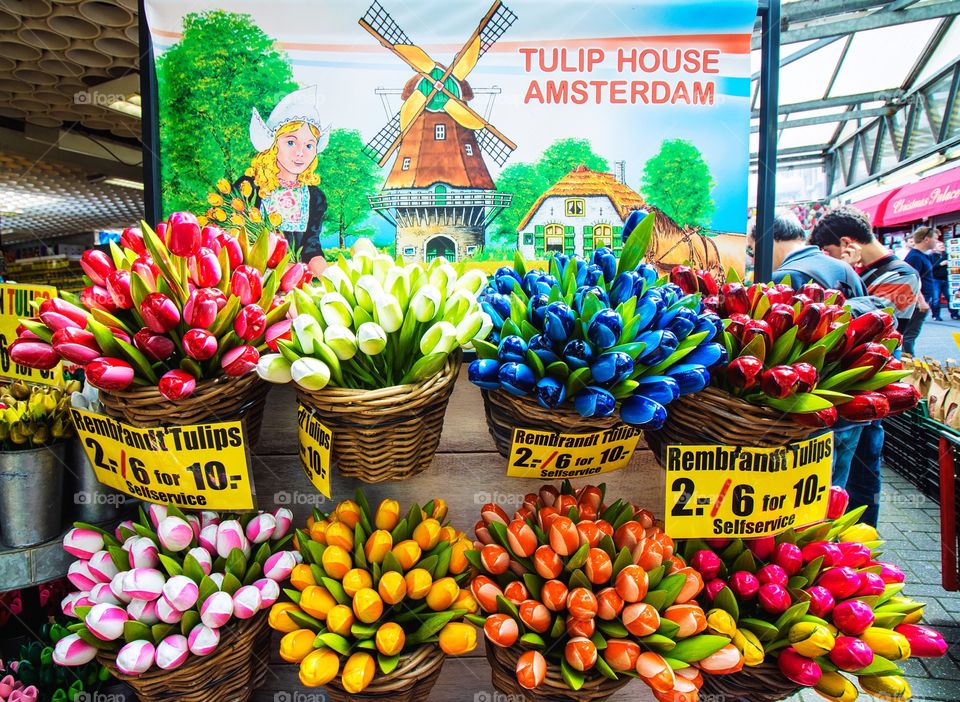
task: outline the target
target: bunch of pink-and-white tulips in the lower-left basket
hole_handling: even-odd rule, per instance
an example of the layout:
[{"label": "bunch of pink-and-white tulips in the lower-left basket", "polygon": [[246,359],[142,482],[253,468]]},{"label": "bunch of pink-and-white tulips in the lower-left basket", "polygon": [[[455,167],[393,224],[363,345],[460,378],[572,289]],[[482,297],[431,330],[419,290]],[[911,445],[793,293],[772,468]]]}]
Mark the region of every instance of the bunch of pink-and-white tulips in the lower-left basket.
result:
[{"label": "bunch of pink-and-white tulips in the lower-left basket", "polygon": [[98,651],[115,656],[119,673],[170,671],[190,655],[207,656],[232,632],[280,596],[299,554],[292,513],[184,514],[150,505],[136,522],[110,533],[78,523],[63,538],[77,557],[67,577],[78,592],[62,602],[80,620],[57,642],[53,660],[84,665]]}]

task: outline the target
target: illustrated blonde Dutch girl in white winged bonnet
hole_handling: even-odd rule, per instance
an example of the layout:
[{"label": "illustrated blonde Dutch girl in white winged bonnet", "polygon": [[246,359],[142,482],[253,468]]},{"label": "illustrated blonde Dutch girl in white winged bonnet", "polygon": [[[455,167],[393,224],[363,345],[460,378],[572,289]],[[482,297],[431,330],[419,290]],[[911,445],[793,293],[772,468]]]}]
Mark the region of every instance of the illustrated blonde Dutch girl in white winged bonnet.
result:
[{"label": "illustrated blonde Dutch girl in white winged bonnet", "polygon": [[285,96],[266,121],[254,107],[250,141],[258,153],[247,171],[252,175],[234,184],[238,188],[246,181],[252,186],[254,204],[264,219],[272,213],[281,217],[280,230],[311,269],[323,267],[320,233],[327,198],[316,169],[329,134],[329,125],[320,122],[315,85]]}]

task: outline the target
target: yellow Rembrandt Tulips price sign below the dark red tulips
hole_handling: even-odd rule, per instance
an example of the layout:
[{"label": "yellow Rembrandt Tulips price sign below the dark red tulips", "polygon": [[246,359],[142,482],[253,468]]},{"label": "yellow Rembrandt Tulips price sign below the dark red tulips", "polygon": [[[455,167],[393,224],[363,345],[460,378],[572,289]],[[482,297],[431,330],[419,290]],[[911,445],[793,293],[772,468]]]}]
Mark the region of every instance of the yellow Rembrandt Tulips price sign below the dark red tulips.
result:
[{"label": "yellow Rembrandt Tulips price sign below the dark red tulips", "polygon": [[668,446],[664,531],[753,538],[826,516],[833,433],[778,448]]}]

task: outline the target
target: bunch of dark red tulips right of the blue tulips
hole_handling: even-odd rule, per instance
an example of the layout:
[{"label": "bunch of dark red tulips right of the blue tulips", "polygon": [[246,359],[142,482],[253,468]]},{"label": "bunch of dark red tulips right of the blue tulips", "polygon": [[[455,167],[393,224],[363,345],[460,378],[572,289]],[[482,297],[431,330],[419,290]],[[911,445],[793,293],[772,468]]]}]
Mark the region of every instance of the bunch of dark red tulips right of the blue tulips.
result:
[{"label": "bunch of dark red tulips right of the blue tulips", "polygon": [[789,413],[807,427],[837,418],[882,419],[917,405],[893,352],[901,335],[886,311],[852,318],[843,293],[808,283],[717,286],[686,266],[671,273],[684,291],[705,290],[704,306],[724,319],[731,359],[713,369],[713,383],[752,404]]}]

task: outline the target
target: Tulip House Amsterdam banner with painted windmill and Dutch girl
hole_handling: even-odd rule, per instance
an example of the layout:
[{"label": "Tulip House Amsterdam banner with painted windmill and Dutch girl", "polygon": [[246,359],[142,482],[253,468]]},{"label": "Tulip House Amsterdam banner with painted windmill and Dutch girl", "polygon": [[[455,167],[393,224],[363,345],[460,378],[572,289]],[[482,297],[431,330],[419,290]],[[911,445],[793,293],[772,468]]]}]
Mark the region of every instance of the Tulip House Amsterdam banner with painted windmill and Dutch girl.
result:
[{"label": "Tulip House Amsterdam banner with painted windmill and Dutch girl", "polygon": [[756,0],[145,9],[166,213],[486,267],[617,251],[639,209],[662,268],[742,269]]}]

